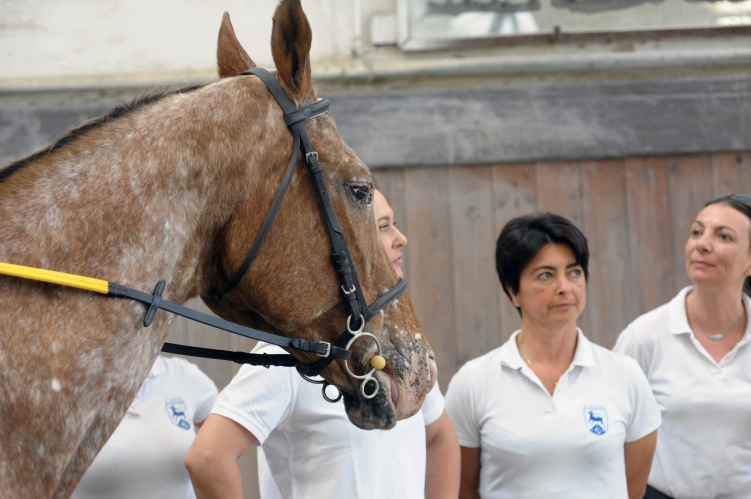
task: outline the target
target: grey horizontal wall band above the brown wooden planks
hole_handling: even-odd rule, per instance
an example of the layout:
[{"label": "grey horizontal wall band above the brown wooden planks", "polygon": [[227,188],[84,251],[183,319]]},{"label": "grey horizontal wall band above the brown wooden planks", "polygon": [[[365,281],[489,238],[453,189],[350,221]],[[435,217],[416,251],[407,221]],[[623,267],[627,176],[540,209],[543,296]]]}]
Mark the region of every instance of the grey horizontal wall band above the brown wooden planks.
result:
[{"label": "grey horizontal wall band above the brown wooden planks", "polygon": [[[371,168],[751,150],[751,76],[482,83],[391,90],[319,85]],[[0,93],[0,164],[132,97]]]}]

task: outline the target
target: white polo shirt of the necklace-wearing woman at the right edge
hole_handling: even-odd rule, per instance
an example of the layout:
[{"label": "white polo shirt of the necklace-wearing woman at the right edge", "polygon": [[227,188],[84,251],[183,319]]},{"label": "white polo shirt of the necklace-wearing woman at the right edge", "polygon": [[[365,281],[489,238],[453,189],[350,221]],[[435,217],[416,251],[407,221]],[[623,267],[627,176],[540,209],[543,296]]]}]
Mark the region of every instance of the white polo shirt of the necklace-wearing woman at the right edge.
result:
[{"label": "white polo shirt of the necklace-wearing woman at the right edge", "polygon": [[[691,289],[629,324],[614,347],[641,365],[662,409],[649,484],[678,499],[751,498],[751,321],[715,362],[688,323]],[[743,305],[751,317],[745,294]]]}]

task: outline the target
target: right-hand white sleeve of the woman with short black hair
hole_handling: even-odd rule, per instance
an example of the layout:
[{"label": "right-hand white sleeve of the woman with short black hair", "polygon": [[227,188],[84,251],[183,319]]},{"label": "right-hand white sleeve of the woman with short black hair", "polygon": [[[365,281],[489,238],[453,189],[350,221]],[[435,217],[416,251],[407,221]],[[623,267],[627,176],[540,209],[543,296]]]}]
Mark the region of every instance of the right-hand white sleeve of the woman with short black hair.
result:
[{"label": "right-hand white sleeve of the woman with short black hair", "polygon": [[626,426],[626,442],[635,442],[659,428],[662,415],[644,372],[634,359],[626,357],[625,361],[631,402],[631,419]]}]

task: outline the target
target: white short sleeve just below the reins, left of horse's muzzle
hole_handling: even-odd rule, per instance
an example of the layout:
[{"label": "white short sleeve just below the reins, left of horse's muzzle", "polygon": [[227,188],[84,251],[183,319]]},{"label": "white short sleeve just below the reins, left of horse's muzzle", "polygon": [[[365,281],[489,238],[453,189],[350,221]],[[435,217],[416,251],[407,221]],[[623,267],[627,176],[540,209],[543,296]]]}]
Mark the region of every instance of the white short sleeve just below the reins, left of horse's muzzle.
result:
[{"label": "white short sleeve just below the reins, left of horse's muzzle", "polygon": [[[285,353],[281,348],[263,345],[260,353]],[[253,434],[259,444],[292,412],[299,376],[289,367],[245,365],[217,398],[212,414],[231,419]]]}]

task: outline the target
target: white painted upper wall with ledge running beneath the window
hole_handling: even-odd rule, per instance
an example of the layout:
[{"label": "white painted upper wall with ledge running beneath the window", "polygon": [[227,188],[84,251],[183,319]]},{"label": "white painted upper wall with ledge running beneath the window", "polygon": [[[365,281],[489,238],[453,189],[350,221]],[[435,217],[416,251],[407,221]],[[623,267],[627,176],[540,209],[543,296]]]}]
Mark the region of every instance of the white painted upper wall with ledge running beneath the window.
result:
[{"label": "white painted upper wall with ledge running beneath the window", "polygon": [[[0,0],[0,92],[213,80],[224,11],[232,16],[240,42],[256,63],[273,67],[269,38],[277,1]],[[751,67],[751,48],[743,35],[452,47],[443,53],[374,47],[371,40],[387,44],[396,36],[399,1],[302,0],[313,29],[316,79],[368,84],[399,78],[537,77],[664,68],[747,72]],[[361,58],[353,56],[356,26],[362,34]]]}]

